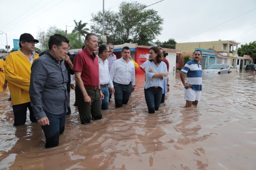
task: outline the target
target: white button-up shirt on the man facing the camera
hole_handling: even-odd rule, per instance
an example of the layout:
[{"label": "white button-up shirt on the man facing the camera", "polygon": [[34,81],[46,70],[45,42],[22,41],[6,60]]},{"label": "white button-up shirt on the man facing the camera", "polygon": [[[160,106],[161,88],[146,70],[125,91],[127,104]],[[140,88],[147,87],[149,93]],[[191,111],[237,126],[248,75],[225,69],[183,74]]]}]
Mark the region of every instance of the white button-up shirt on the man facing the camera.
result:
[{"label": "white button-up shirt on the man facing the camera", "polygon": [[128,85],[135,85],[135,68],[134,63],[130,60],[128,63],[123,58],[117,59],[111,68],[110,78],[112,81]]}]

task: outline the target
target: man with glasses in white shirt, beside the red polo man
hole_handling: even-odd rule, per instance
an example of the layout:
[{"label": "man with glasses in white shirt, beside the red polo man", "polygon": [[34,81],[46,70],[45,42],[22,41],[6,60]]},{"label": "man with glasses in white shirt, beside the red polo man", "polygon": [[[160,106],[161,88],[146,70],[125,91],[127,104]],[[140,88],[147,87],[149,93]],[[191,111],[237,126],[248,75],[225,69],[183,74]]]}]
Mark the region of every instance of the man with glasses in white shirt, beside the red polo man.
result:
[{"label": "man with glasses in white shirt, beside the red polo man", "polygon": [[104,94],[104,99],[102,99],[102,110],[108,110],[108,97],[110,91],[112,94],[115,93],[113,82],[110,79],[110,74],[108,70],[108,54],[110,53],[109,47],[106,44],[99,46],[99,54],[97,55],[99,60],[99,84]]}]

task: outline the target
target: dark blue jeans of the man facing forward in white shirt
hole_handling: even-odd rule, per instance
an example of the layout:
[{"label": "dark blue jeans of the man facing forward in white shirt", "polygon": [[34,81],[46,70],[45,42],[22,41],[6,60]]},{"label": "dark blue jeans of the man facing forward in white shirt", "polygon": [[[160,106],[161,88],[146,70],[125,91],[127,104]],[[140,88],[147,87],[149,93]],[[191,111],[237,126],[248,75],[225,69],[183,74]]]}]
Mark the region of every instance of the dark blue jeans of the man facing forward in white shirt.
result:
[{"label": "dark blue jeans of the man facing forward in white shirt", "polygon": [[[131,83],[130,83],[131,84]],[[122,85],[116,82],[113,82],[115,88],[115,107],[121,108],[122,105],[126,105],[130,98],[131,94],[131,85]]]}]

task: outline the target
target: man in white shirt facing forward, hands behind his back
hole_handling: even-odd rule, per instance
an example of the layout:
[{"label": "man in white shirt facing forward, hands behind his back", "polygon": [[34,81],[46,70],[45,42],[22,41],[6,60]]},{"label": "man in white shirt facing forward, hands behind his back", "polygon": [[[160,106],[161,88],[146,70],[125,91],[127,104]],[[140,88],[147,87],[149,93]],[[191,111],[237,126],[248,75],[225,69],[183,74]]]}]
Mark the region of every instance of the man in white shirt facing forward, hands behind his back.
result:
[{"label": "man in white shirt facing forward, hands behind his back", "polygon": [[[122,58],[117,59],[111,68],[110,77],[115,88],[115,107],[120,108],[128,103],[131,92],[135,89],[134,63],[129,59],[131,50],[122,48]],[[131,88],[132,85],[132,88]]]}]

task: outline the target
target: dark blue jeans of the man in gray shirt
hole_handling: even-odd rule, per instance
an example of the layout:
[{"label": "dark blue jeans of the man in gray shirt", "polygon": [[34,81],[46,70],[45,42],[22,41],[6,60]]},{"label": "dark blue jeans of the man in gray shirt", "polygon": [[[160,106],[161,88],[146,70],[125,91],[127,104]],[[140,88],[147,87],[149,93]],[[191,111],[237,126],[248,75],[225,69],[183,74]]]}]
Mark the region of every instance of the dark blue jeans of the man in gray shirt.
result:
[{"label": "dark blue jeans of the man in gray shirt", "polygon": [[66,113],[52,114],[44,111],[49,119],[49,125],[41,126],[46,139],[45,147],[55,147],[59,143],[59,135],[65,130]]}]

